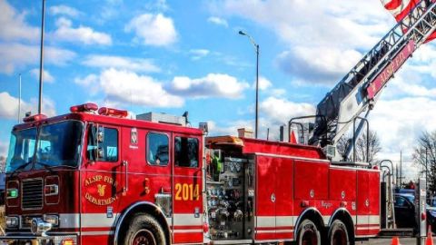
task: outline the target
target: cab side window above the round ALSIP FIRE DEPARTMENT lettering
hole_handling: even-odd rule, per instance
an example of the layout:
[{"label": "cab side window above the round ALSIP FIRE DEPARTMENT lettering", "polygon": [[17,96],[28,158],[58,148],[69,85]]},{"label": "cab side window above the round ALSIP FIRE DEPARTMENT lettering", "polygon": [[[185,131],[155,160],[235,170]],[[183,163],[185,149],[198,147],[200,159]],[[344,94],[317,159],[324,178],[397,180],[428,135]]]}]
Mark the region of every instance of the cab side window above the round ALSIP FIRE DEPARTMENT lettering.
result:
[{"label": "cab side window above the round ALSIP FIRE DEPARTMENT lettering", "polygon": [[[103,130],[103,142],[96,139],[97,133],[95,127],[90,127],[88,132],[88,146],[86,156],[89,160],[100,162],[117,162],[118,161],[118,131],[111,128],[100,128]],[[95,151],[100,153],[94,153]]]}]

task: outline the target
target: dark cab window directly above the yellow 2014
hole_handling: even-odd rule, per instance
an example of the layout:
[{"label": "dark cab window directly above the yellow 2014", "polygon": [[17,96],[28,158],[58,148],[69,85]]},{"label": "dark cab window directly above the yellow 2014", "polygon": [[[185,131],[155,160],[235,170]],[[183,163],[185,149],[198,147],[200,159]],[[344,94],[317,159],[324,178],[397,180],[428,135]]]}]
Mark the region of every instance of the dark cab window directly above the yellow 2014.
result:
[{"label": "dark cab window directly above the yellow 2014", "polygon": [[174,162],[177,167],[198,167],[198,139],[174,138]]}]

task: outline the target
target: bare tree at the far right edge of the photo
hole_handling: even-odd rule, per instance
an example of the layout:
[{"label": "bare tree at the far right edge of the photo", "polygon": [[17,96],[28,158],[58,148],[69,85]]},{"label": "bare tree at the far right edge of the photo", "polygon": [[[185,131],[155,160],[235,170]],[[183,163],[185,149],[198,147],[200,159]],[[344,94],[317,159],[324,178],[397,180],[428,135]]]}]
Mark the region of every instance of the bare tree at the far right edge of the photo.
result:
[{"label": "bare tree at the far right edge of the photo", "polygon": [[427,173],[427,186],[430,191],[436,191],[436,131],[421,133],[412,158]]}]

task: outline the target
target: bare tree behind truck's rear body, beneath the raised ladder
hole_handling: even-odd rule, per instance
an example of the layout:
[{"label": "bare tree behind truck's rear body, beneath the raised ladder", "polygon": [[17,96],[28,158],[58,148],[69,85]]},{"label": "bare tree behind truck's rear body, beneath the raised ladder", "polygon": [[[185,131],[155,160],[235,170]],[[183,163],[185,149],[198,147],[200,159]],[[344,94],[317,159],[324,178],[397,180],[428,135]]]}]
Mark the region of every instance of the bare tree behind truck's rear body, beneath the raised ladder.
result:
[{"label": "bare tree behind truck's rear body, beneath the raised ladder", "polygon": [[[368,143],[368,147],[367,147]],[[343,161],[351,161],[352,159],[346,159],[347,149],[352,144],[352,136],[344,135],[337,144],[338,152],[342,155]],[[367,149],[368,148],[368,149]],[[356,142],[356,161],[363,162],[366,160],[366,152],[368,153],[368,162],[376,162],[377,153],[381,151],[380,138],[377,136],[377,132],[371,131],[369,137],[366,137],[366,132],[362,133],[361,137]]]}]

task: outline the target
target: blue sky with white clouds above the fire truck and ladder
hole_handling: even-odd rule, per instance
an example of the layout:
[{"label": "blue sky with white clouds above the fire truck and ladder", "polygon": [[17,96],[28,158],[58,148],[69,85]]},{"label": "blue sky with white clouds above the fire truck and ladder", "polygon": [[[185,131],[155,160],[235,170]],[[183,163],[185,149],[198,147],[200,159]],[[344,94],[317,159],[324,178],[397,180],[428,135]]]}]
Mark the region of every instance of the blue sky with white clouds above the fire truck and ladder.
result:
[{"label": "blue sky with white clouds above the fire truck and ladder", "polygon": [[[36,112],[40,1],[0,0],[0,155],[23,113]],[[94,102],[132,113],[189,111],[214,134],[253,127],[255,53],[261,47],[260,135],[317,103],[394,25],[378,0],[46,1],[44,113]],[[380,158],[410,161],[434,130],[436,49],[426,44],[389,84],[372,129]],[[22,114],[23,114],[22,113]]]}]

